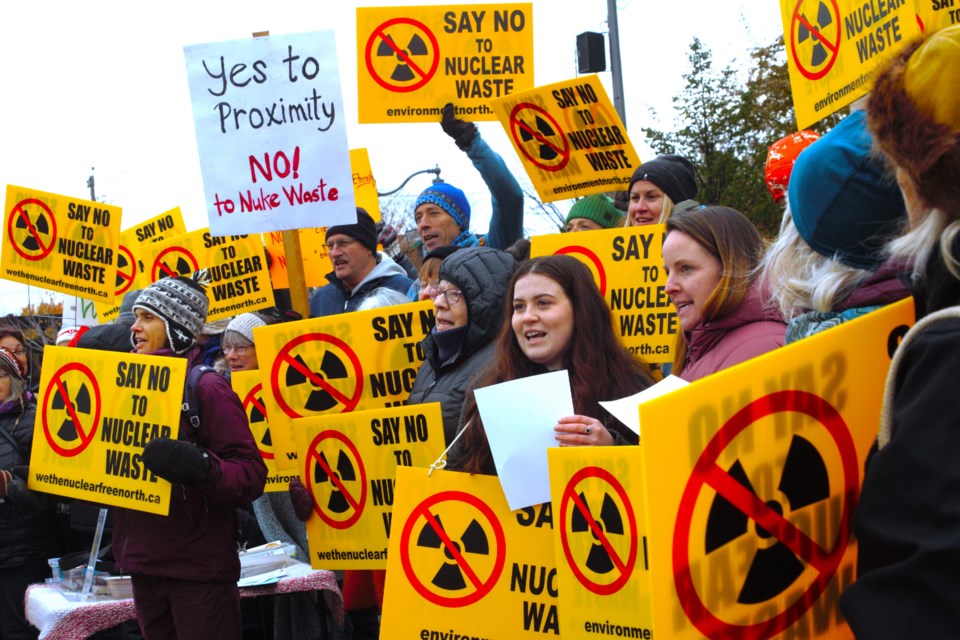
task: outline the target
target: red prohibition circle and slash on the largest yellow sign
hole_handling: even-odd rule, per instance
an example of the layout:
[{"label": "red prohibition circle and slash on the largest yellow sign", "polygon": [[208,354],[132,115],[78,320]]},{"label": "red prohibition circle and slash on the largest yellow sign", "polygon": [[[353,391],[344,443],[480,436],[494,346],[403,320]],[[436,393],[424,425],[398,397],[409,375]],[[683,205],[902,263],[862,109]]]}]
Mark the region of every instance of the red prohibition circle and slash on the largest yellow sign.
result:
[{"label": "red prohibition circle and slash on the largest yellow sign", "polygon": [[[843,479],[842,483],[833,483],[822,454],[800,434],[794,434],[777,485],[778,492],[794,511],[830,500],[831,494],[842,498],[836,536],[826,548],[787,518],[781,502],[765,502],[757,495],[739,460],[729,469],[718,464],[727,446],[750,425],[781,412],[813,418],[826,431],[833,443],[831,446],[839,454]],[[800,619],[817,602],[843,560],[850,539],[850,518],[857,499],[858,481],[857,453],[850,431],[837,410],[819,396],[799,390],[778,391],[735,413],[717,431],[694,465],[680,500],[673,533],[674,586],[681,606],[697,629],[708,638],[765,640]],[[831,487],[835,488],[833,492]],[[840,491],[836,491],[837,487]],[[705,540],[691,540],[694,512],[706,511],[697,508],[698,501],[710,500],[711,495]],[[740,540],[749,531],[750,521],[755,523],[758,544],[772,545],[758,547],[737,603],[767,607],[772,616],[741,625],[721,619],[707,607],[697,591],[690,551],[702,549],[710,554],[722,549]],[[804,563],[812,567],[812,573],[805,570]],[[804,575],[810,584],[799,597],[790,600],[792,604],[770,606],[779,602],[780,595],[788,589],[796,591],[794,585]],[[707,602],[715,600],[715,597],[706,598]],[[778,611],[779,608],[782,610]]]}]

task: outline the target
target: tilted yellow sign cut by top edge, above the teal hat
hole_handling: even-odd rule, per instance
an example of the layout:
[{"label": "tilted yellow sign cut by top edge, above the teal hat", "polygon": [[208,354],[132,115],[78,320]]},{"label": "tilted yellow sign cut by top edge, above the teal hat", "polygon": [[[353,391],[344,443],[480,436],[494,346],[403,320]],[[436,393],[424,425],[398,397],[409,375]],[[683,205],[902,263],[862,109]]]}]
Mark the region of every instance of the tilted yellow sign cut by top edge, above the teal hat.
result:
[{"label": "tilted yellow sign cut by top edge, above the teal hat", "polygon": [[866,95],[888,56],[920,33],[908,0],[780,0],[797,129]]}]

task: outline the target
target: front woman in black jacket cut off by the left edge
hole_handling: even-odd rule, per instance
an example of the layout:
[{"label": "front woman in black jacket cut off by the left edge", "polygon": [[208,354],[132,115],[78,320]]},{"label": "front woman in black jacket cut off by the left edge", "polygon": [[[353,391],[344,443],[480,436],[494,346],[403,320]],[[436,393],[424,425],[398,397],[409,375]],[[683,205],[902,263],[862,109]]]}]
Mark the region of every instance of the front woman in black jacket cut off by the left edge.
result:
[{"label": "front woman in black jacket cut off by the left edge", "polygon": [[0,347],[0,638],[36,638],[23,609],[27,585],[50,575],[56,505],[27,489],[36,401],[17,357]]}]

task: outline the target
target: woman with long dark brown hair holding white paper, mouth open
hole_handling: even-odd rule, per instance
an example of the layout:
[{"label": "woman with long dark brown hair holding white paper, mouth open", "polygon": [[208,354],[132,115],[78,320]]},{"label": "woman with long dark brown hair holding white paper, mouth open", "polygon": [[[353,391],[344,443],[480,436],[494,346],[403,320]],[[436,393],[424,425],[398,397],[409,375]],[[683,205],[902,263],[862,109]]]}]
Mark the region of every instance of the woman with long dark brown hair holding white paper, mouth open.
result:
[{"label": "woman with long dark brown hair holding white paper, mouth open", "polygon": [[[522,262],[507,287],[506,317],[510,322],[497,336],[493,362],[474,389],[566,369],[577,413],[554,428],[560,446],[638,442],[599,403],[642,391],[653,379],[614,332],[610,309],[586,266],[565,255]],[[496,474],[472,391],[461,423],[447,468]]]}]

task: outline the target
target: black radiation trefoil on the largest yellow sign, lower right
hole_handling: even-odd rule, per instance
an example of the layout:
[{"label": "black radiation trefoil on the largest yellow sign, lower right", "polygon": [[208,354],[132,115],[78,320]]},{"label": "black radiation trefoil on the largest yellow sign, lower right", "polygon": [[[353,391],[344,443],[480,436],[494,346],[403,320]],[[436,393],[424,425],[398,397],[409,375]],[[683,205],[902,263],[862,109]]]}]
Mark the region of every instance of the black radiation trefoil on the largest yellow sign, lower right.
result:
[{"label": "black radiation trefoil on the largest yellow sign, lower right", "polygon": [[[747,491],[757,495],[739,460],[728,473]],[[777,490],[786,501],[768,500],[765,504],[784,517],[789,517],[790,511],[804,509],[830,497],[830,478],[823,458],[808,440],[799,435],[794,435],[790,443]],[[786,591],[803,573],[804,565],[787,545],[760,524],[752,522],[721,494],[714,496],[707,516],[706,553],[713,553],[748,534],[756,536],[758,548],[737,602],[757,604]]]}]

